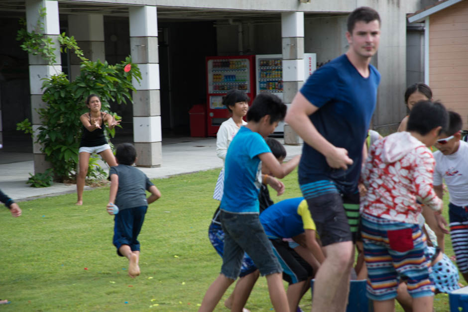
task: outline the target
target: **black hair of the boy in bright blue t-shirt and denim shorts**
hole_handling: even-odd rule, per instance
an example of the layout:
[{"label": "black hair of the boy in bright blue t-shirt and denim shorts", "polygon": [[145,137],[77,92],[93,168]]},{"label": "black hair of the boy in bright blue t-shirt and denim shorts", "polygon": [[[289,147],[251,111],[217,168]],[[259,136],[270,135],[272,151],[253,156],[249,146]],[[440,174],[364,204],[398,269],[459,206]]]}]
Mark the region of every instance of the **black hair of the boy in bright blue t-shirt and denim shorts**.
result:
[{"label": "black hair of the boy in bright blue t-shirt and denim shorts", "polygon": [[262,92],[255,97],[247,111],[247,121],[258,122],[263,116],[270,115],[270,124],[281,121],[286,116],[286,105],[275,95]]}]

